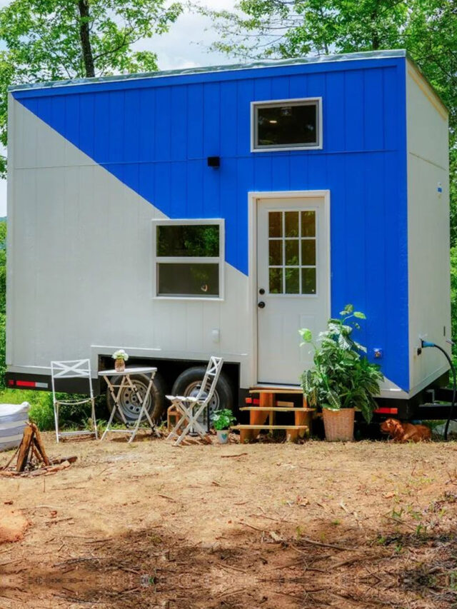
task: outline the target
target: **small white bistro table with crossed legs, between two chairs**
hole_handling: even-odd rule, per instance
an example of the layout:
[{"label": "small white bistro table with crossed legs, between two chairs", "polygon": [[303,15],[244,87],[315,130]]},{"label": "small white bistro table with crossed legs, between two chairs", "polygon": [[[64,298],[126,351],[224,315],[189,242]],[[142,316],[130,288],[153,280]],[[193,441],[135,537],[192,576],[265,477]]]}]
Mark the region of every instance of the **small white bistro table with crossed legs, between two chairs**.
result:
[{"label": "small white bistro table with crossed legs, between two chairs", "polygon": [[[139,430],[140,423],[144,416],[146,417],[149,425],[151,426],[151,430],[156,432],[156,424],[152,421],[151,416],[146,408],[146,404],[148,403],[148,398],[151,395],[151,388],[154,381],[154,376],[156,375],[157,368],[150,367],[134,367],[134,366],[126,366],[126,369],[122,372],[118,372],[117,370],[102,370],[99,372],[99,376],[103,376],[108,385],[109,393],[111,393],[111,398],[113,398],[113,410],[111,411],[111,416],[109,417],[108,425],[104,431],[103,436],[101,436],[101,440],[104,440],[106,434],[109,431],[114,431],[117,433],[130,433],[131,438],[129,439],[129,443],[134,441],[137,431]],[[141,396],[141,393],[138,391],[138,388],[135,385],[135,381],[132,381],[131,376],[135,374],[144,374],[144,376],[149,377],[149,385],[146,389],[146,393],[144,396]],[[118,384],[114,384],[113,381],[115,378],[121,377],[121,382]],[[139,406],[141,406],[139,411],[139,416],[136,419],[135,423],[129,423],[127,421],[126,416],[124,415],[124,411],[122,411],[120,400],[122,396],[122,391],[124,388],[129,387],[131,391],[135,393],[136,399],[138,400]],[[113,423],[114,415],[116,414],[116,410],[119,412],[126,429],[113,429],[111,428],[111,423]]]}]

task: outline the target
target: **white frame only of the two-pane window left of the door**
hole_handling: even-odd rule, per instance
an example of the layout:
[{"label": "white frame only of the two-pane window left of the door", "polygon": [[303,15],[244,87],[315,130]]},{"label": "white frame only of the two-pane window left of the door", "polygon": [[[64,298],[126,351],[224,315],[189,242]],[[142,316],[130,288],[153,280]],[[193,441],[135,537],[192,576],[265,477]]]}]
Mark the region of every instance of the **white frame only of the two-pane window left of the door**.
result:
[{"label": "white frame only of the two-pane window left of the door", "polygon": [[[157,226],[191,226],[204,225],[219,226],[219,256],[201,257],[201,256],[157,256]],[[178,300],[178,301],[206,301],[220,302],[224,301],[225,286],[224,286],[224,268],[225,268],[225,221],[224,218],[202,218],[202,219],[154,219],[152,221],[152,297],[155,300]],[[189,296],[179,294],[170,294],[166,296],[158,293],[159,288],[159,273],[158,264],[179,263],[179,264],[219,264],[219,296]]]}]

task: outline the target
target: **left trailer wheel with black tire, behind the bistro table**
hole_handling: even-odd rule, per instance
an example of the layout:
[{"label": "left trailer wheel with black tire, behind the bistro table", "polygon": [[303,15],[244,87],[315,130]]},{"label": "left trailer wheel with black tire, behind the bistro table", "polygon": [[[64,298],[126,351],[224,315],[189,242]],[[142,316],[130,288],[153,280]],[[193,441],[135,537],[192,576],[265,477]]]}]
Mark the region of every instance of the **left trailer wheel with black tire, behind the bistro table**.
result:
[{"label": "left trailer wheel with black tire, behind the bistro table", "polygon": [[[113,385],[120,385],[121,380],[121,376],[115,376],[111,383]],[[149,377],[144,374],[132,374],[131,381],[138,388],[141,396],[144,396],[149,385]],[[117,391],[117,389],[114,388],[114,391]],[[114,407],[114,401],[108,388],[106,389],[106,403],[108,405],[109,412],[111,413]],[[138,405],[138,398],[136,398],[130,387],[126,387],[122,390],[119,403],[126,420],[129,421],[129,423],[136,421],[139,416],[140,406]],[[158,373],[156,373],[156,376],[154,376],[154,381],[146,408],[148,409],[151,419],[159,422],[165,408],[165,384],[164,380]],[[123,422],[117,408],[116,412],[114,413],[114,418],[116,421],[121,423]]]}]

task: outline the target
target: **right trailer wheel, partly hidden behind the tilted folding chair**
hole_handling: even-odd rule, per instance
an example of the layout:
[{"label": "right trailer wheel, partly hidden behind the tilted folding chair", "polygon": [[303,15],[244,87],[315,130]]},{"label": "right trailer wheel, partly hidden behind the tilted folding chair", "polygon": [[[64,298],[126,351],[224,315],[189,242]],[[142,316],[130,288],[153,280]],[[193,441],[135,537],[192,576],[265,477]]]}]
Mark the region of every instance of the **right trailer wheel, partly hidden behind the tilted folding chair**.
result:
[{"label": "right trailer wheel, partly hidden behind the tilted folding chair", "polygon": [[[205,376],[206,367],[195,366],[194,368],[187,368],[182,372],[171,390],[173,396],[196,396],[199,393],[201,381]],[[230,383],[224,373],[219,376],[219,381],[216,385],[216,391],[214,391],[213,399],[209,404],[209,418],[212,419],[215,411],[221,410],[221,408],[229,408],[233,410],[233,391],[231,390]],[[201,417],[201,422],[206,424],[206,412]]]}]

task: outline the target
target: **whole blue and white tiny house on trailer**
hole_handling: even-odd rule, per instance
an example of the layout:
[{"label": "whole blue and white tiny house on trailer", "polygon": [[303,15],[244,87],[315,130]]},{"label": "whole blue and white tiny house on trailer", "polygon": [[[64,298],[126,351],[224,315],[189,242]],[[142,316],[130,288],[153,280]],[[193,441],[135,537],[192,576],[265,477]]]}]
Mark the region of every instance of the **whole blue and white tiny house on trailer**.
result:
[{"label": "whole blue and white tiny house on trailer", "polygon": [[10,386],[120,347],[297,386],[346,303],[380,400],[446,376],[448,112],[405,51],[12,87],[8,154]]}]

